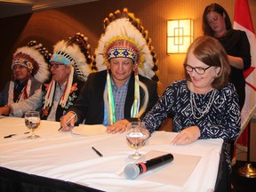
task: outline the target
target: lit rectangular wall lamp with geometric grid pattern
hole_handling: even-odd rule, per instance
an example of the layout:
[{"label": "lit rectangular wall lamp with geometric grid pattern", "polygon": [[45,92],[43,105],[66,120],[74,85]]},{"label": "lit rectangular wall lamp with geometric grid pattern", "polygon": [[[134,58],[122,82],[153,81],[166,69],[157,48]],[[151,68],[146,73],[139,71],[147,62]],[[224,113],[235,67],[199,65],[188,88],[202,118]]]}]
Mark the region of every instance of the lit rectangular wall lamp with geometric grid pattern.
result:
[{"label": "lit rectangular wall lamp with geometric grid pattern", "polygon": [[167,20],[167,54],[186,53],[193,42],[193,20]]}]

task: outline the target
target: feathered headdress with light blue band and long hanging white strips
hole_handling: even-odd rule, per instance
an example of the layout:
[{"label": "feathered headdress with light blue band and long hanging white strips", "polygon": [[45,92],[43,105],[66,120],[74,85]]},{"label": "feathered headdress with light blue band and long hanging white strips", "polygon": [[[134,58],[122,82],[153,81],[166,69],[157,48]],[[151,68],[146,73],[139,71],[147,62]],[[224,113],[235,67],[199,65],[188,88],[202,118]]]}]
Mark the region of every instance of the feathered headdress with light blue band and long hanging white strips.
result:
[{"label": "feathered headdress with light blue band and long hanging white strips", "polygon": [[[88,38],[81,33],[76,33],[75,36],[69,37],[68,41],[62,40],[58,42],[54,45],[50,61],[71,66],[71,73],[68,77],[66,89],[60,98],[60,105],[64,108],[72,88],[73,77],[76,76],[78,79],[85,82],[91,73],[90,65],[92,59]],[[52,106],[55,84],[56,82],[52,79],[45,96],[44,108]]]}]

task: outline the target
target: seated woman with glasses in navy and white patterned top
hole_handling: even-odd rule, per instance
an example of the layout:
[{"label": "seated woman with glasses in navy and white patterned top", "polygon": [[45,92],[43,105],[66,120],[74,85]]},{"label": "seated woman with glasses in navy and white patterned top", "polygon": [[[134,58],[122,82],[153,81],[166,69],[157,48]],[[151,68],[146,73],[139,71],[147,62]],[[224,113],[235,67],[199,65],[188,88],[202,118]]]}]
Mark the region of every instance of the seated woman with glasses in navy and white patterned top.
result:
[{"label": "seated woman with glasses in navy and white patterned top", "polygon": [[235,86],[228,83],[227,53],[214,37],[200,36],[188,48],[184,69],[186,79],[170,84],[143,121],[153,133],[172,116],[173,131],[179,132],[172,145],[223,139],[221,172],[226,174],[223,178],[230,188],[228,141],[239,135],[241,119]]}]

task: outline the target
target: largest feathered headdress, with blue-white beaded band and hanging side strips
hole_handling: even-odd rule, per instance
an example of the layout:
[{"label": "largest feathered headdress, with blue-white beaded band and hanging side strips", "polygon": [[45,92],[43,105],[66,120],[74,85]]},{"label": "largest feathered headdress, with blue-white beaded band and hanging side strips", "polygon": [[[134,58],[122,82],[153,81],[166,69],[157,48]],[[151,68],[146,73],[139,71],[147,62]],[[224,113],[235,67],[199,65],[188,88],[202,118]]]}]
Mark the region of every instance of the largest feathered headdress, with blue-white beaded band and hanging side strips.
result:
[{"label": "largest feathered headdress, with blue-white beaded band and hanging side strips", "polygon": [[[108,111],[108,124],[114,124],[115,108],[113,107],[113,96],[111,95],[111,83],[108,73],[108,61],[112,58],[130,58],[135,64],[135,86],[134,86],[134,102],[132,106],[131,116],[140,117],[148,105],[148,89],[145,84],[139,81],[138,73],[158,82],[156,75],[156,53],[153,52],[151,39],[148,38],[148,31],[144,30],[140,24],[140,20],[136,19],[133,13],[129,13],[126,8],[123,12],[117,10],[115,14],[110,13],[109,19],[104,20],[104,33],[100,36],[98,47],[92,61],[92,70],[107,69],[107,84],[104,92],[105,108]],[[140,87],[144,90],[146,99],[140,108]],[[108,96],[107,96],[108,94]],[[140,111],[139,111],[140,108]]]}]

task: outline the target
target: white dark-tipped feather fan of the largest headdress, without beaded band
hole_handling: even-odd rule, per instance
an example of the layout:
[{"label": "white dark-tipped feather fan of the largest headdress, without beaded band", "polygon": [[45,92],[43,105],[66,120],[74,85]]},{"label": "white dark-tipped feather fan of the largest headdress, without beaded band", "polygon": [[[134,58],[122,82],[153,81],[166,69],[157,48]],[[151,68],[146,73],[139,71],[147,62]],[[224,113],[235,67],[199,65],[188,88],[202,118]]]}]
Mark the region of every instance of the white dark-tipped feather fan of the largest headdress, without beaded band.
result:
[{"label": "white dark-tipped feather fan of the largest headdress, without beaded band", "polygon": [[[117,41],[123,40],[137,48],[137,63],[139,74],[159,81],[156,66],[156,53],[153,52],[151,39],[148,38],[148,30],[145,30],[133,13],[124,8],[123,12],[117,10],[115,14],[109,14],[109,20],[104,20],[105,32],[100,36],[98,47],[95,51],[94,65],[92,69],[104,70],[108,65],[109,47],[115,46]],[[133,48],[132,48],[133,49]]]}]

